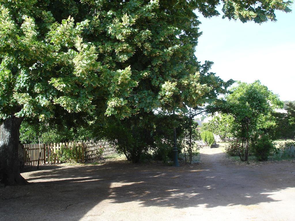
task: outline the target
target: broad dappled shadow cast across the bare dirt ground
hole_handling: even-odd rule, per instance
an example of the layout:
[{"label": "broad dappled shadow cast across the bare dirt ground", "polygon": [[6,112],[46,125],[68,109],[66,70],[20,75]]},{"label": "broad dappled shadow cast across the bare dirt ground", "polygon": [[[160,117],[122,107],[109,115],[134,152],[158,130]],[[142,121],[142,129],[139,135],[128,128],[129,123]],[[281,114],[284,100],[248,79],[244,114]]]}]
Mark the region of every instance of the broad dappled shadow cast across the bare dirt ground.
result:
[{"label": "broad dappled shadow cast across the bare dirt ground", "polygon": [[[178,209],[275,202],[273,192],[295,187],[292,168],[291,162],[256,167],[212,162],[175,168],[126,161],[53,166],[30,172],[30,185],[0,189],[0,214],[3,220],[78,221],[104,200]],[[100,212],[103,206],[96,216]]]}]

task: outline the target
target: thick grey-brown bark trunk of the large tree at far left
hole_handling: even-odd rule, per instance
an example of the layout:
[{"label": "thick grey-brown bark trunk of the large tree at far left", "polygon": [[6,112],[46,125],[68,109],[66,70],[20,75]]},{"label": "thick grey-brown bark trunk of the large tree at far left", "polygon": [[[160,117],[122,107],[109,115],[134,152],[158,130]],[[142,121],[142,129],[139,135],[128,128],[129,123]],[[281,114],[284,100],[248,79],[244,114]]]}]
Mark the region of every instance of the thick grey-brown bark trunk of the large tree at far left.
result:
[{"label": "thick grey-brown bark trunk of the large tree at far left", "polygon": [[12,115],[0,123],[0,182],[4,185],[27,184],[19,172],[19,127],[22,120]]}]

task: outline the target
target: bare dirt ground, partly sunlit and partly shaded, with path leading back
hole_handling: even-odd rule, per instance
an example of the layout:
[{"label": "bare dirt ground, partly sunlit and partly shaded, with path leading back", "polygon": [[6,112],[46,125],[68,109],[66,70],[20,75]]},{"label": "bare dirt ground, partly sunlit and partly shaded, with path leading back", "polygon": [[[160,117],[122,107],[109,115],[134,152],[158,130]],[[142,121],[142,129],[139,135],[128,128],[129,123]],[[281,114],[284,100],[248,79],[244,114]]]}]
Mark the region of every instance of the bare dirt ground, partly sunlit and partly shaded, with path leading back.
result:
[{"label": "bare dirt ground, partly sunlit and partly shaded, with path leading back", "polygon": [[41,166],[0,188],[0,220],[295,220],[295,163],[241,165],[221,149],[201,164]]}]

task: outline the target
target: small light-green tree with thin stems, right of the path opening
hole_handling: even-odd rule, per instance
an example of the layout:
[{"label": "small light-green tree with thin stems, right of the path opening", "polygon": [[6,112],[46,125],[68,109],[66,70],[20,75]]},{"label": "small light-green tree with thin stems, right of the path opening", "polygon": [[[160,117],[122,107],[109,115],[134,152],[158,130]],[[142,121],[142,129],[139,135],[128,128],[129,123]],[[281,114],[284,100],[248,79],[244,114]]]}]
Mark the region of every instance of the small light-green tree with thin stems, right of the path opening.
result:
[{"label": "small light-green tree with thin stems, right of the path opening", "polygon": [[260,81],[252,84],[239,82],[231,91],[225,100],[209,105],[208,110],[218,110],[235,119],[232,133],[242,145],[239,156],[242,161],[248,161],[251,138],[261,129],[275,124],[271,113],[275,108],[282,107],[283,103]]}]

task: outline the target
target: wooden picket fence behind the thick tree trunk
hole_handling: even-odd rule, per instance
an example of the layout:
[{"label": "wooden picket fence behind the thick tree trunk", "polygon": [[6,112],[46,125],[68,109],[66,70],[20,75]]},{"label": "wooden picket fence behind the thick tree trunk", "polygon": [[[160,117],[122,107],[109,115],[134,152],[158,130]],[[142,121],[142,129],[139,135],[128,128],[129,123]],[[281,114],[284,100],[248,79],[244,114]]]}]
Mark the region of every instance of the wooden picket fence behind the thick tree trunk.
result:
[{"label": "wooden picket fence behind the thick tree trunk", "polygon": [[[76,145],[71,143],[59,143],[59,144],[24,144],[24,165],[35,166],[38,164],[58,164],[60,159],[58,158],[58,151],[60,148],[68,147],[73,148],[76,156],[76,162],[94,162],[101,156],[116,153],[116,147],[114,144],[108,141],[79,141],[75,142]],[[103,149],[103,150],[102,150]]]}]

